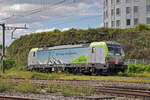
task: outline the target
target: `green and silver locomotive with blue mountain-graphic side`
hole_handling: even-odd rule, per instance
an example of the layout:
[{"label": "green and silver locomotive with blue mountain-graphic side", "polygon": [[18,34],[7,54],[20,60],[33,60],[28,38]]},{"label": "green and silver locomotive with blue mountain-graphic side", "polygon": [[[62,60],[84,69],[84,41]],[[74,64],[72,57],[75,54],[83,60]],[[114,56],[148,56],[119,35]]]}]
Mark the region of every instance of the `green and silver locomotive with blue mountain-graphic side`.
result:
[{"label": "green and silver locomotive with blue mountain-graphic side", "polygon": [[125,71],[124,57],[117,42],[33,48],[28,56],[28,70],[110,75]]}]

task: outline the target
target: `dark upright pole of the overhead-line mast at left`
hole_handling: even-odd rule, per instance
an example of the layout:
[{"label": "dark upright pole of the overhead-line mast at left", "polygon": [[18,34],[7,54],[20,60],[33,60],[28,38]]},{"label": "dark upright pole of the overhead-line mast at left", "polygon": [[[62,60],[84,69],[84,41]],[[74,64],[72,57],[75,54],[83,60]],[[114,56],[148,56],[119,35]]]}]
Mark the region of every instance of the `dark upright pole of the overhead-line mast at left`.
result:
[{"label": "dark upright pole of the overhead-line mast at left", "polygon": [[5,24],[2,24],[2,73],[5,73]]}]

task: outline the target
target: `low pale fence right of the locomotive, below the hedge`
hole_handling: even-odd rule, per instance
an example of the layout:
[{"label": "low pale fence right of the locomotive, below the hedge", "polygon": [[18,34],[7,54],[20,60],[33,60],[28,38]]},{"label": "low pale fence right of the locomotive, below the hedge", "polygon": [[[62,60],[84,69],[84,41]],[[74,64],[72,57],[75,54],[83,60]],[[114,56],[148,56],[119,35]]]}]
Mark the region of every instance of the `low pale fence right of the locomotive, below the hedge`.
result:
[{"label": "low pale fence right of the locomotive, below the hedge", "polygon": [[147,65],[150,64],[150,59],[127,59],[125,64],[142,64]]}]

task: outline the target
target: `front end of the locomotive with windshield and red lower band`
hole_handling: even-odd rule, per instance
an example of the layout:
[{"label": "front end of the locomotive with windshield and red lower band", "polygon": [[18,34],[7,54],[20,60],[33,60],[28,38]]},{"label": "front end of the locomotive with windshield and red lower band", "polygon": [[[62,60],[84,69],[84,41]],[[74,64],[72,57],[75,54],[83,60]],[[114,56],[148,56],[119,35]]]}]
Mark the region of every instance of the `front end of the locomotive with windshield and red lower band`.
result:
[{"label": "front end of the locomotive with windshield and red lower band", "polygon": [[109,70],[111,72],[124,72],[127,66],[124,64],[125,54],[122,46],[117,42],[107,42],[109,57],[106,59],[106,63],[109,64]]}]

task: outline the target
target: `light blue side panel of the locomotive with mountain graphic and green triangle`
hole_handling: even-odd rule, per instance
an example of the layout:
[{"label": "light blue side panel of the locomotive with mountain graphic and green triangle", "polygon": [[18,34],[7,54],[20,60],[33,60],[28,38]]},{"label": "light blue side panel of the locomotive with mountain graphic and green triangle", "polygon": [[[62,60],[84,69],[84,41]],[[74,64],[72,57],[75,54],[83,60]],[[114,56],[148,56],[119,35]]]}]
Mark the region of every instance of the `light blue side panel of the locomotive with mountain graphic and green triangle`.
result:
[{"label": "light blue side panel of the locomotive with mountain graphic and green triangle", "polygon": [[88,48],[40,50],[37,62],[48,65],[88,63]]}]

